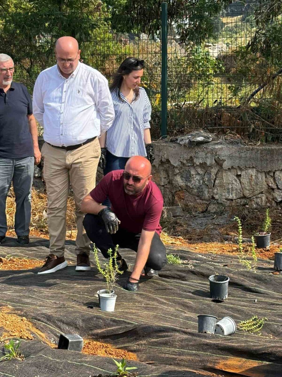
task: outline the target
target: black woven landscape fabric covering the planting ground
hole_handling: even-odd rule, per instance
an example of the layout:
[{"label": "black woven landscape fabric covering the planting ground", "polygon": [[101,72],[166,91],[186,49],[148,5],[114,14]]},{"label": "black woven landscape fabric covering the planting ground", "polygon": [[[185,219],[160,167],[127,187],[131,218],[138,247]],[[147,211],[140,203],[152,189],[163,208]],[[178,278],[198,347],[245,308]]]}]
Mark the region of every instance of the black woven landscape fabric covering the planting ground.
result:
[{"label": "black woven landscape fabric covering the planting ground", "polygon": [[[115,287],[113,313],[98,306],[95,294],[106,285],[94,264],[91,271],[76,272],[75,265],[69,265],[43,275],[37,274],[39,268],[0,270],[0,306],[11,306],[10,313],[26,317],[50,342],[58,343],[61,333],[79,334],[135,352],[139,362],[130,361],[130,366],[138,366],[143,376],[282,376],[282,273],[271,273],[273,261],[260,259],[253,272],[235,255],[167,249],[179,254],[182,264],[167,264],[159,278],[143,278],[136,293],[122,288],[129,276],[124,273]],[[44,239],[19,247],[10,238],[0,247],[2,257],[44,259],[48,253]],[[120,253],[132,266],[135,253]],[[65,257],[76,261],[71,241]],[[100,260],[105,261],[102,256]],[[230,278],[224,302],[214,302],[209,295],[208,277],[213,274]],[[260,335],[237,329],[231,336],[220,336],[198,333],[198,314],[229,316],[237,325],[254,315],[267,321]],[[0,329],[0,335],[3,332]],[[0,376],[89,377],[115,370],[111,358],[52,349],[36,336],[21,347],[26,359],[0,362]]]}]

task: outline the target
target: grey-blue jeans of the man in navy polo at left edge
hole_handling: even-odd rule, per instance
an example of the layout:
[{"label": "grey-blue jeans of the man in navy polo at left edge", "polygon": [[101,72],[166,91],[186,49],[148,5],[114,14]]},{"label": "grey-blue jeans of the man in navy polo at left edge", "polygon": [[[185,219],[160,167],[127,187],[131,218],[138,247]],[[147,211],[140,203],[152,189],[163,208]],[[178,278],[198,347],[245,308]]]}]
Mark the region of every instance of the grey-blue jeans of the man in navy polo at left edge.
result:
[{"label": "grey-blue jeans of the man in navy polo at left edge", "polygon": [[12,182],[16,198],[15,232],[18,237],[29,235],[33,170],[33,156],[25,158],[0,157],[0,236],[5,236],[8,229],[5,210]]}]

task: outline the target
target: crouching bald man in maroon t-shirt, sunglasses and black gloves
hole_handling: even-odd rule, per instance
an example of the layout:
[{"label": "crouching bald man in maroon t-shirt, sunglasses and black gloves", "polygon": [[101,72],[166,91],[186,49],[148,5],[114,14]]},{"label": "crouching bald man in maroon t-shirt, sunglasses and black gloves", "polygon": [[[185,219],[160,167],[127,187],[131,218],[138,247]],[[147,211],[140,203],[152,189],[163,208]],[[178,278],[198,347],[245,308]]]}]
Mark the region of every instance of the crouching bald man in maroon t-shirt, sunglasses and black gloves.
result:
[{"label": "crouching bald man in maroon t-shirt, sunglasses and black gloves", "polygon": [[[107,197],[111,209],[100,204]],[[124,170],[108,173],[82,201],[81,211],[87,213],[83,221],[86,233],[105,258],[116,245],[137,252],[133,271],[124,286],[129,291],[138,290],[143,268],[145,274],[158,276],[157,271],[167,261],[159,237],[163,202],[161,191],[152,182],[151,164],[141,156],[129,158]],[[117,260],[119,269],[126,271],[126,261],[120,254]]]}]

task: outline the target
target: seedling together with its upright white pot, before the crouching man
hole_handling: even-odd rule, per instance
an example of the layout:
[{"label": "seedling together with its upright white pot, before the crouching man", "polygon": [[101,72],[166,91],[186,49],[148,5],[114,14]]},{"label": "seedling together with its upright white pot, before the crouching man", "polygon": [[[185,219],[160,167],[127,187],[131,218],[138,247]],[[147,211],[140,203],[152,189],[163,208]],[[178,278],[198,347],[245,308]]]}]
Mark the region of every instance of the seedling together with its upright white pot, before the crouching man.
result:
[{"label": "seedling together with its upright white pot, before the crouching man", "polygon": [[114,253],[112,252],[112,249],[108,250],[109,259],[108,262],[104,264],[104,268],[101,267],[98,257],[98,250],[95,246],[93,250],[98,271],[106,279],[107,283],[107,289],[97,291],[99,305],[101,310],[103,311],[115,310],[115,300],[117,298],[117,295],[114,294],[113,288],[115,286],[115,282],[118,279],[118,274],[122,274],[122,272],[118,269],[117,250],[118,245],[116,246]]}]

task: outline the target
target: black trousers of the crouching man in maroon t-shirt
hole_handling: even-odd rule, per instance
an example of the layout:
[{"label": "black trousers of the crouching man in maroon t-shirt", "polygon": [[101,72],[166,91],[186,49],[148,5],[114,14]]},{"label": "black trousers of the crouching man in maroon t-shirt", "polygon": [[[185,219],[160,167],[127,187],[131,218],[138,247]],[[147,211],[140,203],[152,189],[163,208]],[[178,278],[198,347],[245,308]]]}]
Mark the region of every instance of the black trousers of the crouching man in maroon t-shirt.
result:
[{"label": "black trousers of the crouching man in maroon t-shirt", "polygon": [[[87,213],[83,220],[83,226],[89,239],[101,250],[103,256],[108,258],[108,250],[115,250],[115,246],[121,248],[132,249],[137,252],[141,233],[132,233],[125,229],[118,228],[117,233],[109,234],[106,231],[105,224],[100,216]],[[146,262],[146,266],[153,270],[161,270],[167,262],[165,246],[155,232],[150,253]]]}]

